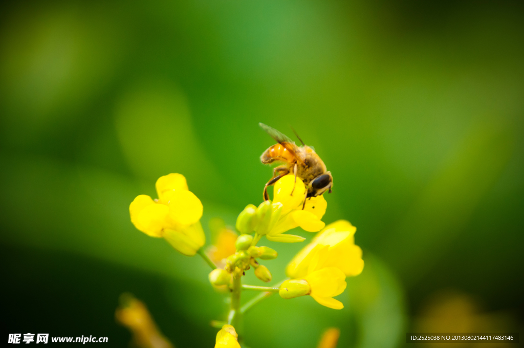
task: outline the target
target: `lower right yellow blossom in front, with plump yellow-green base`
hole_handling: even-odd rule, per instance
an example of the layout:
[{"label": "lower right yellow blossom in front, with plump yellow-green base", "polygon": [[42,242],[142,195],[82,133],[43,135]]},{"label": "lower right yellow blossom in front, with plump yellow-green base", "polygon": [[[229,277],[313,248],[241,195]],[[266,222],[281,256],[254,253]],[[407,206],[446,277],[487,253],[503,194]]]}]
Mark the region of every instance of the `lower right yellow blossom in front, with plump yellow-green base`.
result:
[{"label": "lower right yellow blossom in front, with plump yellow-green base", "polygon": [[280,297],[288,299],[309,295],[316,302],[333,309],[342,309],[342,302],[333,296],[344,292],[346,275],[339,268],[325,267],[328,257],[328,247],[322,248],[315,254],[307,270],[307,275],[302,279],[286,280],[280,286]]}]

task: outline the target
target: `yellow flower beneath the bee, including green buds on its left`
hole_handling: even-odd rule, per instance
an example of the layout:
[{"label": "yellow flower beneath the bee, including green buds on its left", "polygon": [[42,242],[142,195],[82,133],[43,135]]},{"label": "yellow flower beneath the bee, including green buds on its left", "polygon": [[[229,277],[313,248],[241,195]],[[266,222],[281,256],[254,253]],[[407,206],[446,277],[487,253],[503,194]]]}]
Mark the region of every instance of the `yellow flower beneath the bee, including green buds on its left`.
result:
[{"label": "yellow flower beneath the bee, including green buds on its left", "polygon": [[308,232],[320,231],[325,226],[321,219],[328,205],[320,195],[308,198],[302,209],[305,190],[302,180],[297,179],[295,183],[292,174],[280,178],[275,183],[273,202],[265,201],[258,208],[253,204],[246,206],[238,215],[237,229],[242,233],[255,231],[274,242],[302,242],[305,238],[284,232],[295,227]]}]

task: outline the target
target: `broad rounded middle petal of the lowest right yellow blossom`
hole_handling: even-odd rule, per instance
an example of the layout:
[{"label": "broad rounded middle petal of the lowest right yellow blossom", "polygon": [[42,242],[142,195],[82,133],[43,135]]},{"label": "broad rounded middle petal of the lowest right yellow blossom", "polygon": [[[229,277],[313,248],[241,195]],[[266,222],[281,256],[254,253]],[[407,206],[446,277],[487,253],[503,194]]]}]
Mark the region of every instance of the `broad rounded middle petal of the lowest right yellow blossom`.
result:
[{"label": "broad rounded middle petal of the lowest right yellow blossom", "polygon": [[308,274],[304,278],[311,285],[311,295],[332,297],[340,295],[346,288],[346,275],[336,267],[326,267]]}]

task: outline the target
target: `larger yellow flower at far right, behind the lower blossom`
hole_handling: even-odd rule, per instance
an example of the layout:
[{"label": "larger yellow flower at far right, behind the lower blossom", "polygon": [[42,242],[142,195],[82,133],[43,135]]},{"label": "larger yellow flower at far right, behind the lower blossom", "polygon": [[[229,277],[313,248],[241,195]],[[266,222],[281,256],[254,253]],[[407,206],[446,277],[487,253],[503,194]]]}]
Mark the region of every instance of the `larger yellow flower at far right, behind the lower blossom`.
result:
[{"label": "larger yellow flower at far right, behind the lower blossom", "polygon": [[355,245],[355,231],[356,227],[345,220],[329,224],[291,260],[286,267],[287,276],[304,277],[314,256],[323,248],[327,248],[323,267],[337,267],[346,276],[359,275],[364,268],[364,260],[362,249]]}]

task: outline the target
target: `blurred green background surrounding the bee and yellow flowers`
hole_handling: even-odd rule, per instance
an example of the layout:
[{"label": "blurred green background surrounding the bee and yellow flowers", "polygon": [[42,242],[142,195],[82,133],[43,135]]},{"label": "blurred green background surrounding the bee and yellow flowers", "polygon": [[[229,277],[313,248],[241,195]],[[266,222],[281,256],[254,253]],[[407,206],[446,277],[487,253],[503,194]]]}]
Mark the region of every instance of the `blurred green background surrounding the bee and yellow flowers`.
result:
[{"label": "blurred green background surrounding the bee and yellow flowers", "polygon": [[[249,312],[250,347],[314,347],[333,326],[339,347],[403,346],[449,318],[522,328],[521,2],[0,6],[2,340],[127,346],[114,310],[130,291],[177,347],[213,346],[227,305],[208,266],[137,231],[128,206],[180,172],[204,226],[233,225],[271,177],[258,122],[315,147],[334,177],[323,220],[357,226],[366,266],[341,311],[274,296]],[[264,244],[277,281],[304,245]]]}]

